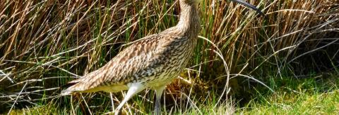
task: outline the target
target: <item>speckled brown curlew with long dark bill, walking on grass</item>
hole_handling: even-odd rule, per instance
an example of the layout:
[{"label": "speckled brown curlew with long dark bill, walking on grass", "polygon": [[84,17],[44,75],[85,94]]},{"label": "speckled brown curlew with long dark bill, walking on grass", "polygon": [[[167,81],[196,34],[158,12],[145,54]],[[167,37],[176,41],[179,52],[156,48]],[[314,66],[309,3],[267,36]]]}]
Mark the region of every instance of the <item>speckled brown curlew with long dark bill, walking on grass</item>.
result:
[{"label": "speckled brown curlew with long dark bill, walking on grass", "polygon": [[[165,86],[179,76],[194,53],[201,28],[198,11],[200,1],[179,0],[182,11],[176,26],[136,41],[105,66],[69,82],[70,87],[62,90],[61,95],[97,91],[117,93],[128,90],[124,100],[114,111],[119,114],[120,109],[133,95],[145,88],[152,88],[156,96],[155,114],[160,114],[160,98]],[[242,0],[232,1],[261,13],[258,8]]]}]

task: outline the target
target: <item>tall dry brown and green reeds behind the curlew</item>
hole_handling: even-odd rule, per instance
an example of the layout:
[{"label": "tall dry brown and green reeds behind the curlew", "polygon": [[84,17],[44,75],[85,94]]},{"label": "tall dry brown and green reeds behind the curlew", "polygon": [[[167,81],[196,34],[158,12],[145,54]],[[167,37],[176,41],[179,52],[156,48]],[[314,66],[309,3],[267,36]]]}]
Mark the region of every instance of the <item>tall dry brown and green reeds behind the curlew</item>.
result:
[{"label": "tall dry brown and green reeds behind the curlew", "polygon": [[[228,100],[250,100],[244,94],[272,79],[339,74],[339,1],[248,2],[267,17],[230,1],[200,4],[196,53],[167,86],[167,114],[208,113],[199,109],[204,105],[232,113],[241,105]],[[60,86],[99,69],[131,41],[176,25],[179,11],[172,0],[0,1],[0,113],[109,113],[123,93],[70,99],[58,96]],[[151,112],[149,92],[134,97],[125,112]]]}]

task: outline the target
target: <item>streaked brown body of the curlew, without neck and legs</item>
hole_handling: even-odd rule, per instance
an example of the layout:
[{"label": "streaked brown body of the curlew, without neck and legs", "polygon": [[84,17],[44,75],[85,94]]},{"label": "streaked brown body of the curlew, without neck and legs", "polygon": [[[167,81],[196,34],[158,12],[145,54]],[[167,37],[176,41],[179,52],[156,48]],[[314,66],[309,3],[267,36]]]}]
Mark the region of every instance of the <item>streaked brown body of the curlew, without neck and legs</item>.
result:
[{"label": "streaked brown body of the curlew, without neck and legs", "polygon": [[76,84],[70,88],[77,92],[117,92],[120,90],[105,89],[107,86],[121,86],[126,90],[128,83],[141,83],[145,87],[169,83],[186,67],[194,52],[200,29],[198,17],[195,20],[192,21],[194,24],[183,22],[184,25],[136,41],[105,66],[71,81]]}]

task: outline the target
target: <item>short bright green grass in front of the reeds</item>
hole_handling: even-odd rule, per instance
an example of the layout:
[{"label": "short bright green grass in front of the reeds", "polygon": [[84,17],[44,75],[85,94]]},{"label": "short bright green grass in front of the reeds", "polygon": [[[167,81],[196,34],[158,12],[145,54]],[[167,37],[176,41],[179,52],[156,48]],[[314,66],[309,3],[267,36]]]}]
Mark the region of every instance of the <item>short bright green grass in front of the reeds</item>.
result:
[{"label": "short bright green grass in front of the reeds", "polygon": [[[205,104],[201,104],[202,100],[193,97],[191,98],[193,104],[187,104],[188,107],[185,111],[165,108],[166,114],[338,114],[338,73],[310,76],[315,76],[315,78],[295,79],[285,76],[284,79],[274,80],[275,84],[271,84],[270,87],[274,88],[275,93],[263,90],[264,88],[258,86],[254,88],[253,94],[249,95],[252,99],[244,106],[239,106],[236,99],[232,99],[233,101],[230,103],[215,106],[213,100],[218,99],[215,96],[218,94],[211,94],[206,98],[212,100],[207,100]],[[152,109],[148,110],[151,107],[141,104],[140,97],[136,97],[135,100],[135,104],[130,105],[131,111],[138,114],[152,111]],[[150,102],[146,103],[150,104]],[[97,114],[111,113],[110,104],[105,104],[102,107],[107,109],[102,113],[98,113],[95,107],[89,108]],[[11,114],[41,114],[42,112],[46,114],[69,114],[69,111],[72,111],[71,107],[63,108],[58,107],[58,104],[42,104],[26,109],[15,109]],[[126,112],[129,112],[129,109]],[[76,111],[76,113],[81,114],[82,112]]]}]

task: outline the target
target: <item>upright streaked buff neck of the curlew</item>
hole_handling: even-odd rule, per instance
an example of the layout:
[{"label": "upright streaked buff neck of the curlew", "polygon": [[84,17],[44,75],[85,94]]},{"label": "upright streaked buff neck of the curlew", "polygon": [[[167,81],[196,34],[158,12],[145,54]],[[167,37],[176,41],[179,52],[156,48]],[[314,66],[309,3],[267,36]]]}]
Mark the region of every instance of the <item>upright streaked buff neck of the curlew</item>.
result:
[{"label": "upright streaked buff neck of the curlew", "polygon": [[177,24],[181,34],[184,36],[196,37],[200,32],[200,16],[197,5],[180,3],[180,20]]}]

